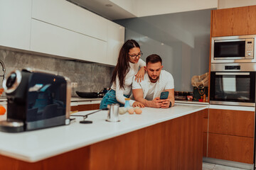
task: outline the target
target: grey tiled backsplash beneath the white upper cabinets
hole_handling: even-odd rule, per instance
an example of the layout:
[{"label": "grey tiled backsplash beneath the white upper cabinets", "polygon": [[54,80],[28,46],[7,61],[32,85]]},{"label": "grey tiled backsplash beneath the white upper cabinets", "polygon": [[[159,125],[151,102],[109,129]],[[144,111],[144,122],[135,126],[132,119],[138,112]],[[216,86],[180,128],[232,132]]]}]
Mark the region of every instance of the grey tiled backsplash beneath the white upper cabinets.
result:
[{"label": "grey tiled backsplash beneath the white upper cabinets", "polygon": [[[71,82],[78,83],[78,88],[72,89],[72,96],[77,96],[75,91],[101,91],[103,87],[110,87],[113,71],[112,67],[99,64],[62,60],[10,50],[0,50],[0,60],[6,66],[6,76],[14,69],[29,67],[68,77]],[[0,68],[0,74],[3,74],[2,72]],[[0,86],[2,86],[2,79]]]}]

